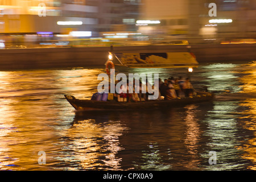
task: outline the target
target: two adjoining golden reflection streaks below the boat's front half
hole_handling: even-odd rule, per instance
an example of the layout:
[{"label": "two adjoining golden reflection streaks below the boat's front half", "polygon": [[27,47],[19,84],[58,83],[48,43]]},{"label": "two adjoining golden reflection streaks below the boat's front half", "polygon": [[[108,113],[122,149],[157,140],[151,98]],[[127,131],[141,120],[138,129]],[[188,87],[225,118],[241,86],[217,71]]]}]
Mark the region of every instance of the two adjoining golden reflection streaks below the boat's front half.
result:
[{"label": "two adjoining golden reflection streaks below the boat's front half", "polygon": [[119,170],[122,158],[118,158],[117,154],[123,150],[119,137],[125,130],[126,127],[119,121],[97,123],[88,119],[74,123],[63,135],[63,151],[67,152],[59,159],[71,163],[70,169],[72,163],[77,161],[79,166],[73,169]]}]

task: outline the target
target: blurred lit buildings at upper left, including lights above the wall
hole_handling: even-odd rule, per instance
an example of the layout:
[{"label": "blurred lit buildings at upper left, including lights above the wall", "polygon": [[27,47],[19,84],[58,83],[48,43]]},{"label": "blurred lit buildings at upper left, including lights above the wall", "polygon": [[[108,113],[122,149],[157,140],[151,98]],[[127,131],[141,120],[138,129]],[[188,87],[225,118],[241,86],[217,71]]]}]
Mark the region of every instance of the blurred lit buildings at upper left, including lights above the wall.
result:
[{"label": "blurred lit buildings at upper left, including lights above the wall", "polygon": [[135,32],[139,5],[140,0],[0,0],[0,48],[49,47],[56,40],[78,46],[86,38],[105,38],[101,32]]}]

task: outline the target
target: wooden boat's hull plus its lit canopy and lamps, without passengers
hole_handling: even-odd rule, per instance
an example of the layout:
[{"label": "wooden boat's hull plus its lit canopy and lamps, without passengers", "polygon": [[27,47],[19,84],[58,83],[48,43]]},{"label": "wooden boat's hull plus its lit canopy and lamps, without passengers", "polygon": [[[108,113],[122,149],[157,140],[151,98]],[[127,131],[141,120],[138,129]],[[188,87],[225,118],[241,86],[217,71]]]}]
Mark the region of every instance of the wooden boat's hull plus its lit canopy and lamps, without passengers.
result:
[{"label": "wooden boat's hull plus its lit canopy and lamps, without passengers", "polygon": [[[113,56],[114,55],[114,56]],[[193,67],[198,67],[195,55],[189,52],[164,52],[164,53],[109,53],[106,61],[106,72],[110,75],[110,69],[114,69],[113,59],[118,60],[119,66],[129,68],[187,68],[192,72]],[[176,98],[173,100],[150,100],[142,102],[117,102],[117,101],[95,101],[80,100],[74,96],[65,95],[67,101],[76,110],[135,110],[154,109],[157,107],[175,107],[197,102],[213,100],[213,94],[209,92],[196,92],[196,96],[187,98]]]}]

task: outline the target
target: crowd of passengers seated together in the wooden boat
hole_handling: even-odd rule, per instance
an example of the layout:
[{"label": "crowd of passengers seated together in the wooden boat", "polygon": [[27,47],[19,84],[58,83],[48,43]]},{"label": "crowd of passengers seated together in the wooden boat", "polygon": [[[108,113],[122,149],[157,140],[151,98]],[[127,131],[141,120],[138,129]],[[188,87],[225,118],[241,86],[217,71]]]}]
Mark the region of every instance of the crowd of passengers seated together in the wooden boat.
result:
[{"label": "crowd of passengers seated together in the wooden boat", "polygon": [[[150,82],[146,80],[146,84],[139,81],[139,86],[133,81],[133,92],[129,92],[129,81],[126,85],[121,85],[121,88],[117,90],[114,94],[114,98],[118,102],[139,102],[148,101],[148,96],[153,95],[152,92],[148,92],[149,89],[154,89],[155,85],[151,85]],[[193,86],[189,81],[189,78],[183,80],[182,77],[179,78],[168,78],[162,81],[159,78],[159,94],[158,98],[155,100],[172,100],[174,98],[190,97],[193,95]],[[130,88],[131,89],[131,88]],[[123,90],[127,90],[126,93]],[[146,93],[143,92],[146,90]]]}]

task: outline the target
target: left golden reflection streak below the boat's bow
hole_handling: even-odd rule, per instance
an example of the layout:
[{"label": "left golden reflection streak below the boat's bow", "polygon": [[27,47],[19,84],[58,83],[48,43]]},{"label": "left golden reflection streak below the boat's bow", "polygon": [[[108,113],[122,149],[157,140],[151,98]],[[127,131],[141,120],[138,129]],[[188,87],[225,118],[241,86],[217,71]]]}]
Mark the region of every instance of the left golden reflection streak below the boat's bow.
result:
[{"label": "left golden reflection streak below the boat's bow", "polygon": [[[101,147],[97,144],[97,138],[102,138],[101,133],[102,128],[93,121],[74,124],[64,133],[62,150],[64,156],[59,158],[66,163],[77,161],[83,169],[95,169],[95,163],[102,155],[98,152]],[[101,165],[97,163],[97,166]]]}]

